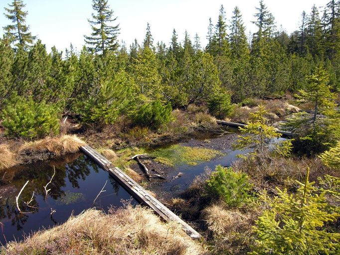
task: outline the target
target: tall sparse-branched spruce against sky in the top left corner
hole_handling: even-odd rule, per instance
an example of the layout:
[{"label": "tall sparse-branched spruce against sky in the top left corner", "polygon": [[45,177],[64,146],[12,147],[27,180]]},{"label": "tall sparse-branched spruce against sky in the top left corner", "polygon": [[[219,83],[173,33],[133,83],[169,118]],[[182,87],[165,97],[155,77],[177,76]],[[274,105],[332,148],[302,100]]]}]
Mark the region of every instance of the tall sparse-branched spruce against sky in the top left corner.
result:
[{"label": "tall sparse-branched spruce against sky in the top left corner", "polygon": [[26,4],[22,0],[13,0],[11,4],[8,4],[9,8],[4,8],[6,18],[12,21],[13,24],[3,27],[10,41],[16,45],[26,46],[33,43],[35,36],[29,32],[29,26],[26,25],[25,18],[27,11],[23,8]]}]

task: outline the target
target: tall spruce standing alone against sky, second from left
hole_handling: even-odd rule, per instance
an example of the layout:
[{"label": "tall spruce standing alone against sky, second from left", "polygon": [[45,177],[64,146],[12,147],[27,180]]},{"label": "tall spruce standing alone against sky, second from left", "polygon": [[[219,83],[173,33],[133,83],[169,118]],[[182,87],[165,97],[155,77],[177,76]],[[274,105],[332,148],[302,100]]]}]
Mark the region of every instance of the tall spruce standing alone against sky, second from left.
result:
[{"label": "tall spruce standing alone against sky, second from left", "polygon": [[88,48],[100,54],[105,54],[108,50],[117,50],[120,29],[119,24],[111,25],[117,17],[113,17],[108,0],[92,0],[92,8],[95,11],[92,13],[93,19],[88,19],[92,33],[90,36],[84,35]]}]

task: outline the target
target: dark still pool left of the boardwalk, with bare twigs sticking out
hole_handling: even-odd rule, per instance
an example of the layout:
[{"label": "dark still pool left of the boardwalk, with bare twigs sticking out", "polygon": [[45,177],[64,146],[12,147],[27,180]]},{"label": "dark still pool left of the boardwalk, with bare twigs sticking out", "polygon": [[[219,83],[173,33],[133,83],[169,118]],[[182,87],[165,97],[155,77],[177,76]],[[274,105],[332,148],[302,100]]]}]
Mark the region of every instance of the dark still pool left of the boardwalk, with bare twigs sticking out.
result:
[{"label": "dark still pool left of the boardwalk, with bare twigs sticking out", "polygon": [[[44,186],[50,189],[45,197]],[[26,181],[16,208],[15,196]],[[107,184],[93,203],[105,182]],[[34,192],[34,196],[32,194]],[[107,211],[110,206],[119,207],[122,200],[131,199],[108,172],[93,163],[83,154],[72,155],[62,161],[39,162],[8,169],[0,173],[0,242],[4,245],[12,240],[22,240],[32,231],[50,228],[65,222],[70,215],[96,207]],[[32,198],[32,201],[28,203]],[[51,210],[55,211],[51,215]]]}]

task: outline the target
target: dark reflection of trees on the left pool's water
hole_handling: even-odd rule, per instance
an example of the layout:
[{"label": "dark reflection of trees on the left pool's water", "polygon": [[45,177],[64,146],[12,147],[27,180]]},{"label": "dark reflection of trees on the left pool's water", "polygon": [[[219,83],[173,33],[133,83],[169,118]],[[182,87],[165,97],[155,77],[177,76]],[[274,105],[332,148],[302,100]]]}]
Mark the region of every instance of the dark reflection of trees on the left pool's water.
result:
[{"label": "dark reflection of trees on the left pool's water", "polygon": [[[71,158],[66,157],[63,160],[37,162],[7,169],[6,175],[9,177],[6,179],[2,178],[0,182],[0,197],[2,197],[0,198],[0,222],[10,221],[12,226],[16,225],[17,230],[22,230],[29,215],[37,213],[39,209],[42,209],[39,207],[37,201],[39,199],[37,198],[40,197],[40,200],[41,198],[44,200],[44,185],[50,181],[53,175],[53,166],[55,166],[55,176],[48,186],[51,190],[48,192],[47,200],[49,197],[57,200],[65,196],[65,191],[62,188],[66,186],[66,178],[73,188],[79,188],[79,180],[85,180],[92,170],[95,172],[99,171],[98,166],[86,160],[86,156],[81,153],[73,154]],[[16,208],[15,196],[27,180],[29,182],[18,200],[20,210],[23,212],[19,213]],[[113,186],[118,192],[119,187]],[[30,201],[33,191],[34,197],[27,206],[25,202]],[[49,207],[48,201],[45,201],[44,207]]]}]

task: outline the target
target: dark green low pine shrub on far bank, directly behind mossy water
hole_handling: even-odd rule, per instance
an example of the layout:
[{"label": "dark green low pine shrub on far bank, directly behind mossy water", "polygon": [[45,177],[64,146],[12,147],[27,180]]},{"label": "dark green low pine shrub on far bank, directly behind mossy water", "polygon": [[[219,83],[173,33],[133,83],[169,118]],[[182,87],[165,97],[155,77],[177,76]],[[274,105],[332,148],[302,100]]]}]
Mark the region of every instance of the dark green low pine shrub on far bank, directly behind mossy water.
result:
[{"label": "dark green low pine shrub on far bank, directly behind mossy water", "polygon": [[158,129],[171,121],[171,111],[170,104],[164,106],[161,101],[155,100],[142,105],[132,117],[137,126]]}]

